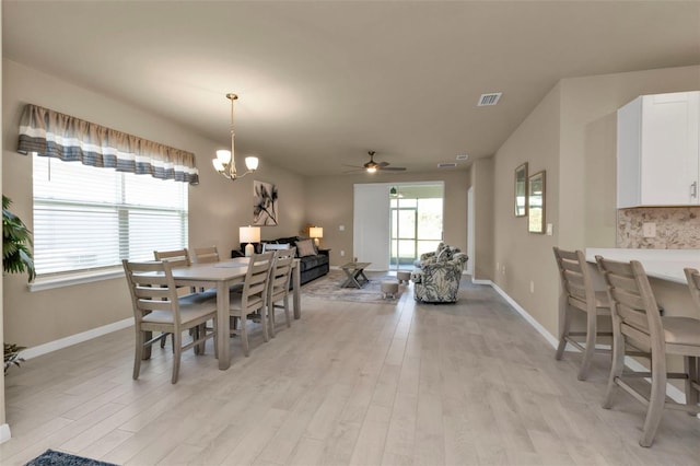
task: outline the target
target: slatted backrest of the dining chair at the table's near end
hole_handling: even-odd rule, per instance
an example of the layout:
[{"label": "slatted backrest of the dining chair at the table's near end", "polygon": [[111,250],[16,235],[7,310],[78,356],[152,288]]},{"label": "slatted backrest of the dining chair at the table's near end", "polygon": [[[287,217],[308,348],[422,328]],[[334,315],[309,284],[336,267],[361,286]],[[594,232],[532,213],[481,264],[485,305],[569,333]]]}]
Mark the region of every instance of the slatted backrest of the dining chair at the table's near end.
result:
[{"label": "slatted backrest of the dining chair at the table's near end", "polygon": [[121,264],[131,293],[133,317],[137,323],[153,311],[170,311],[177,326],[180,322],[179,302],[171,265],[162,260],[130,263],[126,259]]}]

